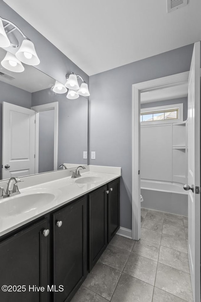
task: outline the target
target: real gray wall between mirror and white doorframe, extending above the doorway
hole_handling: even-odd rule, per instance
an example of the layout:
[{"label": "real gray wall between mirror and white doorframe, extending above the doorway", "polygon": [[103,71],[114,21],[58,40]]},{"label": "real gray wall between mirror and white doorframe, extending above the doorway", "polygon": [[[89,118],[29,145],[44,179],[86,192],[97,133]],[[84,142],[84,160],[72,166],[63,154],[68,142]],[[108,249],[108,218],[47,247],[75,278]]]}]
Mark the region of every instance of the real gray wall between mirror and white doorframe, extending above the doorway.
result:
[{"label": "real gray wall between mirror and white doorframe, extending above the doorway", "polygon": [[90,76],[90,164],[122,167],[122,227],[132,227],[132,84],[188,71],[192,52],[187,45]]}]

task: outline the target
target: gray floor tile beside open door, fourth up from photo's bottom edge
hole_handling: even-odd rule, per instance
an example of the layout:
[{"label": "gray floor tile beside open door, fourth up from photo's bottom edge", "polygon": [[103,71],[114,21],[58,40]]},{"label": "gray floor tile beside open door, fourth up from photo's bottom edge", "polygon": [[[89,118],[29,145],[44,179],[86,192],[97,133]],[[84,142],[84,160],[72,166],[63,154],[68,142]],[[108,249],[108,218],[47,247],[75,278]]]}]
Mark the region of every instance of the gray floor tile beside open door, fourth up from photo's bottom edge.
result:
[{"label": "gray floor tile beside open door, fourth up from photo's bottom edge", "polygon": [[162,233],[161,245],[187,253],[186,239],[179,236]]}]

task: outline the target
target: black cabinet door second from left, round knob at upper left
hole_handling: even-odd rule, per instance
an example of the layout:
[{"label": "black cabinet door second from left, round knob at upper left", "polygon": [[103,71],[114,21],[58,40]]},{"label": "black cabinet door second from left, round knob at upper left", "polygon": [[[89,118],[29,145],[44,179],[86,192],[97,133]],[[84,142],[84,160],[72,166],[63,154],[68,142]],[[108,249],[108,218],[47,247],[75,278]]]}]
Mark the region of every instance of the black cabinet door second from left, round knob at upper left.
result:
[{"label": "black cabinet door second from left, round knob at upper left", "polygon": [[[82,198],[53,215],[54,223],[54,284],[63,285],[54,293],[55,302],[69,301],[87,271],[87,199]],[[57,226],[57,222],[62,225]]]}]

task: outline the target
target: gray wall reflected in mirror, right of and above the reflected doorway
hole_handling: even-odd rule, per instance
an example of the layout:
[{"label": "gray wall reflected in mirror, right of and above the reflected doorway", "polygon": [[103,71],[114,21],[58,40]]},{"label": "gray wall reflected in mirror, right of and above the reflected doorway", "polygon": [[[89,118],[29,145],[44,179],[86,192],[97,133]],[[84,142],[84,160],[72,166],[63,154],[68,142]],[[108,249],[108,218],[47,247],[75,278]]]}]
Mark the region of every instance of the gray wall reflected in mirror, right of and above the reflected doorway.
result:
[{"label": "gray wall reflected in mirror, right of and above the reflected doorway", "polygon": [[32,93],[32,106],[52,102],[58,102],[58,166],[87,165],[83,151],[87,151],[88,143],[88,100],[82,96],[70,100],[66,93],[57,94],[50,89]]}]

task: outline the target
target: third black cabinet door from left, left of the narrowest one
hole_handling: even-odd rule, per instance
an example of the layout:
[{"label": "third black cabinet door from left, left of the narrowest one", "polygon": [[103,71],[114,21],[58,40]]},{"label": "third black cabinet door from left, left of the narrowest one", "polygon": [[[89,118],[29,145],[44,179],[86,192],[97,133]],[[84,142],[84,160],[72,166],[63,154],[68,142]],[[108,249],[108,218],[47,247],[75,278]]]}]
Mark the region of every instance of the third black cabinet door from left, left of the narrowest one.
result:
[{"label": "third black cabinet door from left, left of the narrowest one", "polygon": [[107,246],[107,186],[89,194],[89,271]]}]

